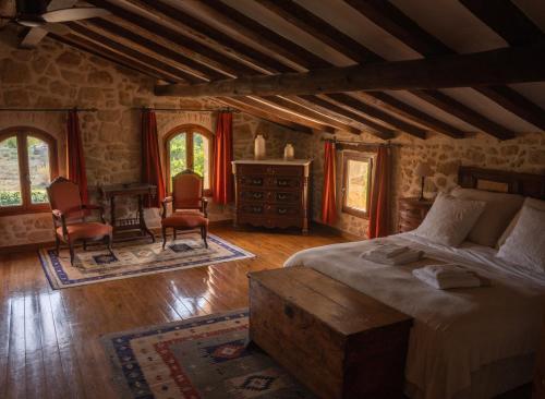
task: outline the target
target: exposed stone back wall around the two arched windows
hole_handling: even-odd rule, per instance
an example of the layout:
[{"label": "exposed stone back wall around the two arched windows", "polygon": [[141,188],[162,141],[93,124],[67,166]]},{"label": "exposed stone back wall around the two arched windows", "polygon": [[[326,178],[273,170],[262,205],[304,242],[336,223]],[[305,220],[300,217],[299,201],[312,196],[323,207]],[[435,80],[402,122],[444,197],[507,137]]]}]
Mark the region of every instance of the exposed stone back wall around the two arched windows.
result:
[{"label": "exposed stone back wall around the two arched windows", "polygon": [[[22,108],[98,108],[81,112],[80,123],[94,202],[97,185],[140,180],[141,112],[137,107],[217,107],[205,100],[179,100],[155,97],[155,81],[132,70],[77,51],[55,40],[45,39],[36,50],[16,49],[16,38],[9,29],[0,33],[0,107]],[[55,136],[59,150],[59,171],[65,173],[64,113],[1,112],[0,131],[11,126],[32,126]],[[160,140],[182,124],[198,124],[214,132],[214,112],[157,112]],[[294,133],[276,124],[235,113],[233,147],[237,159],[253,156],[253,137],[262,132],[268,137],[268,150],[280,156],[281,148]],[[162,144],[160,148],[162,150]],[[105,204],[107,206],[107,204]],[[118,205],[118,204],[117,204]],[[119,215],[135,211],[135,200],[121,200]],[[210,205],[210,219],[232,218],[232,205]],[[108,215],[108,209],[107,209]],[[146,209],[149,226],[159,225],[158,209]],[[50,214],[0,217],[0,246],[51,241]]]}]

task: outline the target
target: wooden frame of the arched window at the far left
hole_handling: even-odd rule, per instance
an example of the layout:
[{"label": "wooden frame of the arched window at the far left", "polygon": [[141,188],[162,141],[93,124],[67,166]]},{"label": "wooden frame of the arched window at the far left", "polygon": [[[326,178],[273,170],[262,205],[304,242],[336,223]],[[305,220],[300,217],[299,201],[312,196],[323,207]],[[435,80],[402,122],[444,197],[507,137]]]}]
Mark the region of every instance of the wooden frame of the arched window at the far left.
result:
[{"label": "wooden frame of the arched window at the far left", "polygon": [[28,136],[39,138],[47,143],[49,148],[49,176],[52,181],[59,176],[59,161],[57,153],[57,140],[36,128],[14,126],[0,131],[0,142],[10,137],[17,140],[17,161],[19,161],[19,179],[21,185],[21,198],[23,204],[15,206],[1,206],[0,215],[24,215],[45,213],[51,209],[47,204],[33,204],[31,195],[31,171],[28,168]]}]

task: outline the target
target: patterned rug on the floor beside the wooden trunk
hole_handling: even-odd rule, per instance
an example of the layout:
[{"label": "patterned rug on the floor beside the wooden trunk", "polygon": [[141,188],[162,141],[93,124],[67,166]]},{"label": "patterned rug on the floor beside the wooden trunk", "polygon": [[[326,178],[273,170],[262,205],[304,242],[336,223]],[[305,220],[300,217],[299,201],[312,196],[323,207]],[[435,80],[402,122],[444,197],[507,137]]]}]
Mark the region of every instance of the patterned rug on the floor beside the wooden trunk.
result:
[{"label": "patterned rug on the floor beside the wooden trunk", "polygon": [[295,399],[314,396],[258,349],[247,311],[102,337],[122,398]]}]

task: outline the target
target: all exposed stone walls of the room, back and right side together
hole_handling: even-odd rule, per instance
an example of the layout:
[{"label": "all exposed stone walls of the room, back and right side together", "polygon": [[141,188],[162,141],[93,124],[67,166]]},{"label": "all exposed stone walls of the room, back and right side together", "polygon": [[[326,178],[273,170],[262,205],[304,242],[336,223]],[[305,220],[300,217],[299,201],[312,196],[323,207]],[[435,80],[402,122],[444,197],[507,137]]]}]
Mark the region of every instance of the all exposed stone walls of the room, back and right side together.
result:
[{"label": "all exposed stone walls of the room, back and right side together", "polygon": [[[0,33],[0,106],[1,107],[96,107],[98,112],[81,113],[81,128],[87,162],[87,178],[92,192],[99,184],[124,183],[140,179],[140,112],[133,107],[187,107],[217,106],[203,100],[159,98],[153,95],[154,81],[132,70],[111,64],[80,52],[57,41],[45,39],[33,51],[17,50],[16,38],[9,31]],[[209,112],[158,112],[159,136],[181,124],[199,124],[214,131],[215,114]],[[0,131],[10,126],[33,126],[48,132],[58,141],[59,169],[65,165],[65,114],[43,112],[2,112]],[[267,155],[282,156],[284,145],[295,147],[296,158],[312,158],[313,162],[313,216],[320,220],[323,159],[326,135],[306,135],[253,118],[235,113],[233,119],[234,158],[253,155],[256,132],[267,138]],[[376,141],[371,135],[360,137],[349,133],[337,135],[341,140]],[[396,223],[397,198],[415,196],[419,179],[412,170],[420,160],[429,161],[435,176],[428,179],[428,195],[456,184],[459,165],[505,169],[523,172],[545,172],[545,136],[541,133],[521,134],[516,140],[498,142],[487,135],[452,140],[435,135],[426,141],[402,135],[395,141],[401,147],[392,153],[391,226]],[[162,145],[161,145],[162,149]],[[340,182],[342,154],[337,157],[339,219],[336,227],[364,237],[367,220],[340,211]],[[95,194],[96,196],[96,194]],[[121,214],[133,213],[134,202],[120,204]],[[213,220],[230,219],[232,205],[211,205]],[[158,226],[157,209],[148,209],[146,219]],[[0,246],[50,241],[49,214],[0,217]]]}]

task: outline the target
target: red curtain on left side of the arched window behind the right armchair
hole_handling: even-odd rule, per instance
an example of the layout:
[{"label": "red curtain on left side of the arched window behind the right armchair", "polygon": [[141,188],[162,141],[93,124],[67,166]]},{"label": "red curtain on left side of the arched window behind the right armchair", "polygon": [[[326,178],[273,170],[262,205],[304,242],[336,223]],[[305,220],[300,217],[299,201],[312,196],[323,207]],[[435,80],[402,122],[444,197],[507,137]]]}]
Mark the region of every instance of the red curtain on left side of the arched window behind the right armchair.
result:
[{"label": "red curtain on left side of the arched window behind the right armchair", "polygon": [[155,112],[149,109],[142,111],[142,182],[157,185],[157,194],[155,197],[146,196],[144,206],[158,208],[166,196],[166,191],[159,155],[157,119]]}]

